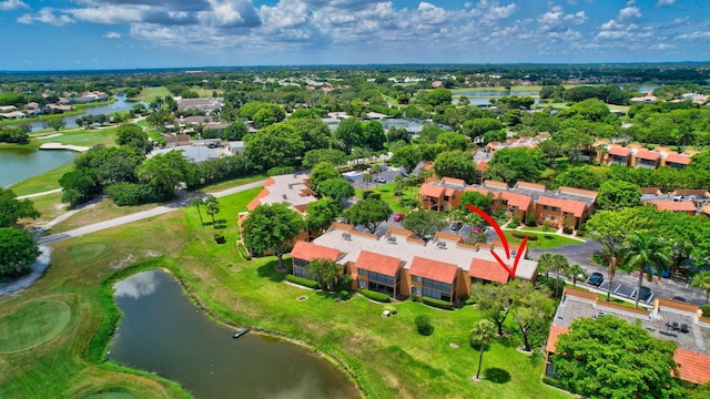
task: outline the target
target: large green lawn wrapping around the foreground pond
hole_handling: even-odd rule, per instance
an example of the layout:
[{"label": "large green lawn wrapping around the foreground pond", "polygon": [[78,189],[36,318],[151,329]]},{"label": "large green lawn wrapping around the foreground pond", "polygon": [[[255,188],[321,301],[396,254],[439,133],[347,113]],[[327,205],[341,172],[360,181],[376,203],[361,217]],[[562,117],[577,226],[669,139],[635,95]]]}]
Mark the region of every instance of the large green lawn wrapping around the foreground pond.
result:
[{"label": "large green lawn wrapping around the foreground pond", "polygon": [[[196,208],[190,207],[54,244],[52,266],[42,279],[20,296],[0,297],[0,323],[38,300],[68,304],[72,323],[36,349],[0,357],[0,397],[83,398],[104,391],[183,397],[156,376],[102,362],[118,318],[111,283],[102,282],[148,267],[172,269],[224,323],[271,330],[341,359],[371,398],[570,397],[541,383],[544,361],[516,349],[521,339],[513,325],[507,327],[510,336],[493,344],[484,357],[486,379],[471,381],[478,356],[468,332],[480,318],[475,307],[445,311],[405,301],[394,304],[397,316],[383,318],[383,305],[363,297],[336,301],[283,284],[273,257],[242,260],[233,245],[236,216],[260,191],[220,198],[216,217],[226,221],[224,229],[201,226]],[[215,232],[227,244],[214,244]],[[140,267],[126,269],[130,264]],[[302,295],[308,300],[296,300]],[[432,336],[416,332],[418,315],[432,318]]]}]

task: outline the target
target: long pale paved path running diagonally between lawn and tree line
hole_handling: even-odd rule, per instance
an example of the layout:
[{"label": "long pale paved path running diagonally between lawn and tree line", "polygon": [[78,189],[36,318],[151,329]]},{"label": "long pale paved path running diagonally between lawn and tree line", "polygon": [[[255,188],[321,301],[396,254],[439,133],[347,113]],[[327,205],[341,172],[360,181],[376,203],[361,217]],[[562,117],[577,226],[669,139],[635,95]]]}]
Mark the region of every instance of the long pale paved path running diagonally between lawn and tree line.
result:
[{"label": "long pale paved path running diagonally between lawn and tree line", "polygon": [[[247,191],[251,188],[256,188],[256,187],[263,187],[264,183],[266,183],[265,180],[258,181],[258,182],[254,182],[254,183],[248,183],[248,184],[244,184],[241,186],[236,186],[236,187],[232,187],[232,188],[227,188],[227,190],[223,190],[221,192],[215,192],[215,193],[210,193],[212,195],[214,195],[215,197],[220,198],[223,197],[225,195],[231,195],[231,194],[235,194],[235,193],[240,193],[243,191]],[[206,195],[206,194],[204,194]],[[44,237],[40,237],[38,239],[38,243],[40,245],[47,245],[50,243],[57,243],[60,241],[64,241],[68,238],[72,238],[72,237],[78,237],[78,236],[82,236],[85,234],[91,234],[91,233],[95,233],[102,229],[106,229],[106,228],[111,228],[111,227],[115,227],[115,226],[121,226],[128,223],[132,223],[132,222],[136,222],[136,221],[141,221],[144,218],[149,218],[149,217],[153,217],[153,216],[159,216],[175,209],[180,209],[186,206],[190,206],[190,202],[192,202],[192,198],[194,197],[194,195],[186,195],[182,198],[176,200],[175,202],[172,202],[168,205],[161,205],[161,206],[156,206],[152,209],[148,209],[148,211],[142,211],[142,212],[136,212],[134,214],[131,215],[126,215],[126,216],[121,216],[121,217],[116,217],[110,221],[104,221],[104,222],[99,222],[99,223],[94,223],[94,224],[90,224],[90,225],[85,225],[82,227],[78,227],[68,232],[63,232],[63,233],[58,233],[58,234],[52,234],[52,235],[48,235]],[[63,217],[64,215],[60,216]],[[50,222],[50,224],[54,223],[54,221]]]}]

